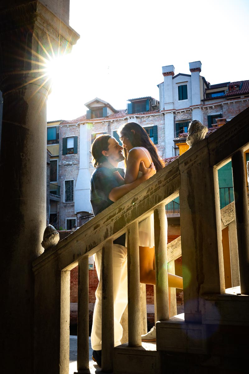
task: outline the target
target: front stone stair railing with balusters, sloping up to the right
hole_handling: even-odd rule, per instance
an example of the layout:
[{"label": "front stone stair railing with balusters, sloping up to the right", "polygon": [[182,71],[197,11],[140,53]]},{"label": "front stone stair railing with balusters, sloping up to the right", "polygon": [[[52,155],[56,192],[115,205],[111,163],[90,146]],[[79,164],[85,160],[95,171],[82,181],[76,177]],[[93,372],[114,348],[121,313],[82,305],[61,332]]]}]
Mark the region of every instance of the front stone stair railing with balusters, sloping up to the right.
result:
[{"label": "front stone stair railing with balusters, sloping up to the right", "polygon": [[[225,295],[218,186],[218,169],[231,160],[234,194],[240,197],[234,202],[237,236],[234,251],[239,258],[240,292],[248,295],[249,216],[243,155],[243,150],[249,147],[248,113],[249,110],[240,113],[208,138],[193,145],[166,168],[123,196],[56,246],[49,248],[33,262],[36,374],[68,374],[69,270],[77,265],[77,369],[78,372],[87,370],[88,257],[101,249],[102,371],[113,370],[113,352],[119,354],[119,351],[117,348],[113,350],[112,244],[114,239],[125,232],[128,236],[128,347],[141,346],[138,223],[153,212],[156,313],[159,321],[156,323],[156,349],[170,351],[171,355],[174,352],[177,352],[177,355],[179,352],[209,354],[213,340],[205,343],[206,331],[209,331],[206,325],[224,324],[224,331],[228,331],[229,325],[243,326],[248,323],[243,319],[244,316],[247,318],[248,313],[237,313],[238,308],[246,308],[245,304],[240,302],[243,296],[235,294],[231,298]],[[165,205],[178,196],[182,223],[181,252],[179,245],[174,248],[173,242],[167,248],[165,240]],[[179,255],[182,255],[183,265],[184,321],[177,318],[168,321],[167,262],[174,261]],[[238,300],[240,307],[234,307]],[[234,344],[234,341],[231,344]],[[122,365],[115,368],[115,373],[124,373],[126,370],[124,349],[121,361],[114,360],[115,365]],[[138,350],[139,362],[141,352]],[[136,355],[134,349],[133,355]],[[132,359],[134,373],[135,361]]]}]

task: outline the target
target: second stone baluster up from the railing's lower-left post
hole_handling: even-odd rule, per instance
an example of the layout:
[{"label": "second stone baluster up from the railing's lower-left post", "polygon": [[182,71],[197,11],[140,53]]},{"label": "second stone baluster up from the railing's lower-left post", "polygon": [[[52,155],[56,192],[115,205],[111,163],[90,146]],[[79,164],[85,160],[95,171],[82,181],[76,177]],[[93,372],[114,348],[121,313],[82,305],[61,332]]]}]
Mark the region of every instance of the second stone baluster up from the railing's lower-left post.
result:
[{"label": "second stone baluster up from the railing's lower-left post", "polygon": [[102,246],[102,371],[113,370],[113,239]]}]

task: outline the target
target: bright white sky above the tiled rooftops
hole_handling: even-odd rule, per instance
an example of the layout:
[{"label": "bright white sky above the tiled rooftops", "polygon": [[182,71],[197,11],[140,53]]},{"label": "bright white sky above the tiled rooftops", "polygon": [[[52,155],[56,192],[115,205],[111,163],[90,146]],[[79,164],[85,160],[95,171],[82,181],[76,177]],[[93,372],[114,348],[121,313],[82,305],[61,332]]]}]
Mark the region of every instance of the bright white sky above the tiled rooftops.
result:
[{"label": "bright white sky above the tiled rooftops", "polygon": [[249,79],[249,0],[70,0],[80,34],[55,68],[47,120],[75,119],[95,97],[115,109],[127,99],[159,99],[162,66],[190,74],[202,62],[211,84]]}]

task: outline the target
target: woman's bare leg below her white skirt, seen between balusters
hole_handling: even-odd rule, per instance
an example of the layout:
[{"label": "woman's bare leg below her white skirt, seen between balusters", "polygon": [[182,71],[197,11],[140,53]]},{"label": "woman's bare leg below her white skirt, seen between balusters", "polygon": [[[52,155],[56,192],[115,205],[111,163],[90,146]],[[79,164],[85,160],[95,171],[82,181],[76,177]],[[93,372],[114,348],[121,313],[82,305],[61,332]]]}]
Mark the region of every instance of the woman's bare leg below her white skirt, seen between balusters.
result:
[{"label": "woman's bare leg below her white skirt, seen between balusters", "polygon": [[[155,248],[139,247],[140,282],[156,284],[156,272],[153,269]],[[183,289],[183,278],[168,273],[168,286]]]}]

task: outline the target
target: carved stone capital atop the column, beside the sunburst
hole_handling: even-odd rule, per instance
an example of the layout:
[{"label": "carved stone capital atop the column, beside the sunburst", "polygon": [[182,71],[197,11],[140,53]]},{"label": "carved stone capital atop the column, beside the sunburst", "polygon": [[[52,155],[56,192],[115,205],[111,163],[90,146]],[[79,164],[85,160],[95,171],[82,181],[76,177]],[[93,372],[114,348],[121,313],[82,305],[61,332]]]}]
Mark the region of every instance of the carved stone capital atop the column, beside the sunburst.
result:
[{"label": "carved stone capital atop the column, beside the sunburst", "polygon": [[32,83],[47,91],[46,61],[70,52],[79,35],[40,1],[0,11],[0,89],[4,93]]}]

